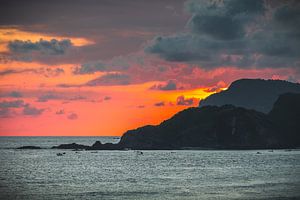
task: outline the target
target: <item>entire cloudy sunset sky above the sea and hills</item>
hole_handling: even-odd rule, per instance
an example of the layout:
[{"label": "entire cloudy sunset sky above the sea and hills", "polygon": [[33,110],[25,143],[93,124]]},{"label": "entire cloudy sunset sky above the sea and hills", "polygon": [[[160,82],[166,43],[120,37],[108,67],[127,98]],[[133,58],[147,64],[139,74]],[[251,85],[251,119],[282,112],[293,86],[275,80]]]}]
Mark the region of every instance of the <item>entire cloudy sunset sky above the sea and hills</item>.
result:
[{"label": "entire cloudy sunset sky above the sea and hills", "polygon": [[0,136],[120,136],[240,78],[300,81],[300,3],[2,0]]}]

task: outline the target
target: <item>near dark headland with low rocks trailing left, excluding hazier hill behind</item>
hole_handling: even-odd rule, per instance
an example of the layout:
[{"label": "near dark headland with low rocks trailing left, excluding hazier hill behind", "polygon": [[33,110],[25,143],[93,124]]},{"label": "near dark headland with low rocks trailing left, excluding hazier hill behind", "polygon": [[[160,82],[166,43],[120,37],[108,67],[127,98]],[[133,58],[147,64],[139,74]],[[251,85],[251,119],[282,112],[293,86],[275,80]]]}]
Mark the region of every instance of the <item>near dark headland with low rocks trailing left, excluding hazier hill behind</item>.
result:
[{"label": "near dark headland with low rocks trailing left, excluding hazier hill behind", "polygon": [[233,105],[188,108],[157,126],[127,131],[118,144],[54,148],[258,149],[300,147],[300,93],[280,95],[269,114]]}]

